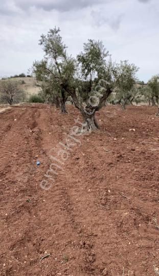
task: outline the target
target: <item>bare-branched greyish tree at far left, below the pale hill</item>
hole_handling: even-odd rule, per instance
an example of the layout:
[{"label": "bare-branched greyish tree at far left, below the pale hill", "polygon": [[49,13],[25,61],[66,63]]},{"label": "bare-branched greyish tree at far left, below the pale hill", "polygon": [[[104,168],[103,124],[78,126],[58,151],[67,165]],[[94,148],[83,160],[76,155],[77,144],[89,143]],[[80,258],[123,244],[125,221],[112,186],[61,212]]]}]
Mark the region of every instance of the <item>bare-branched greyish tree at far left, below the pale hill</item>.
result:
[{"label": "bare-branched greyish tree at far left, below the pale hill", "polygon": [[0,101],[2,103],[12,105],[23,102],[25,97],[25,92],[19,88],[18,82],[11,79],[0,82]]}]

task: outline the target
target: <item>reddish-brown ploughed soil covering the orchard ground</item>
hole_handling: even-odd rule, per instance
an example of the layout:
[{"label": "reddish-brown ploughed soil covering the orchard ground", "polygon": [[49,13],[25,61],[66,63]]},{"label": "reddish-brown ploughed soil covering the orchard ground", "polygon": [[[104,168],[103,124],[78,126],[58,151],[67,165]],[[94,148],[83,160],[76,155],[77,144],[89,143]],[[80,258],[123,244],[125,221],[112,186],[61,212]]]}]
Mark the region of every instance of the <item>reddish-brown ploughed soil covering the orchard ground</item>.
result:
[{"label": "reddish-brown ploughed soil covering the orchard ground", "polygon": [[[78,111],[68,109],[61,115],[47,105],[26,105],[0,114],[0,274],[155,275],[155,108],[103,108],[97,114],[101,131],[76,140],[68,135]],[[51,155],[64,149],[65,137],[72,147],[60,165]],[[56,167],[50,189],[43,190],[51,163],[62,170]]]}]

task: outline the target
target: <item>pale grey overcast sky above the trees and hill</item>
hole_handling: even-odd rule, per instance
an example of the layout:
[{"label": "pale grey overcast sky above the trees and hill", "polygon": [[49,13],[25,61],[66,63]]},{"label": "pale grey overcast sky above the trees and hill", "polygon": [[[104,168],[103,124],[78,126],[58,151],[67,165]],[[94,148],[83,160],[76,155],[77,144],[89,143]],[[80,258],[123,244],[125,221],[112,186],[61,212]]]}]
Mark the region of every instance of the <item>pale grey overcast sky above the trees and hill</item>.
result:
[{"label": "pale grey overcast sky above the trees and hill", "polygon": [[74,57],[88,39],[112,59],[138,65],[140,80],[159,73],[158,0],[1,0],[0,77],[27,73],[42,58],[40,35],[60,27]]}]

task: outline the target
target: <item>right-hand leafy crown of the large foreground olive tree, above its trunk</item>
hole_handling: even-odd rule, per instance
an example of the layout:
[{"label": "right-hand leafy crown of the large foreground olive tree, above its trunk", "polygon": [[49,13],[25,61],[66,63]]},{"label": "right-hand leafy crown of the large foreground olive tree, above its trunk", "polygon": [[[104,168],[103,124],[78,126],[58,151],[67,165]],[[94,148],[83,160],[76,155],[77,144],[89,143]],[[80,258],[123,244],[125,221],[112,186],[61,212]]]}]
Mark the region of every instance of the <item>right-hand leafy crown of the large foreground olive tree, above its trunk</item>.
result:
[{"label": "right-hand leafy crown of the large foreground olive tree, above its trunk", "polygon": [[[109,57],[107,61],[106,58]],[[106,51],[102,41],[88,39],[83,45],[83,52],[77,56],[78,63],[78,85],[77,89],[81,101],[88,105],[90,96],[94,96],[95,90],[101,79],[105,80],[102,86],[106,89],[112,88],[114,82],[113,67],[108,51]],[[105,89],[105,90],[106,90]],[[104,91],[104,90],[103,90]],[[99,91],[102,94],[102,90]]]}]

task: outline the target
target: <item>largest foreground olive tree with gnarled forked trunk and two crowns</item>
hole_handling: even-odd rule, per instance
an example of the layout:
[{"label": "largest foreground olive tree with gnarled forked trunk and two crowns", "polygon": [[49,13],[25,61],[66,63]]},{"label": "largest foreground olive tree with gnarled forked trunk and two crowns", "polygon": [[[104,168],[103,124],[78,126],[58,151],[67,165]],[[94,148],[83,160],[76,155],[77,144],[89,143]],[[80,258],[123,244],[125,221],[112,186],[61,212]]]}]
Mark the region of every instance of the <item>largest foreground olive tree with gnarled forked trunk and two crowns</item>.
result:
[{"label": "largest foreground olive tree with gnarled forked trunk and two crowns", "polygon": [[88,40],[77,59],[69,57],[59,32],[54,28],[41,36],[45,55],[34,63],[36,77],[52,83],[52,91],[57,91],[63,104],[66,95],[72,97],[84,119],[83,131],[96,130],[95,113],[112,92],[115,65],[101,41]]}]

